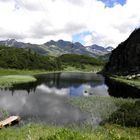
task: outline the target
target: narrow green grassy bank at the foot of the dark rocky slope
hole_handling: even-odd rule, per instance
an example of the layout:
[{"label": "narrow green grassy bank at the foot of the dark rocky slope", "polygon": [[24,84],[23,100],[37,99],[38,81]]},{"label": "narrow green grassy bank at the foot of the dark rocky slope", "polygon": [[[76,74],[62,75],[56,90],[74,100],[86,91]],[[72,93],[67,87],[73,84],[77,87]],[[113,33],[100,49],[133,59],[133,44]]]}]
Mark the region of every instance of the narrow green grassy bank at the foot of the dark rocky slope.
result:
[{"label": "narrow green grassy bank at the foot of the dark rocky slope", "polygon": [[130,86],[133,86],[133,87],[140,89],[140,79],[128,80],[127,77],[125,77],[125,76],[113,76],[110,78],[115,80],[115,81],[119,81],[119,82],[122,82],[122,83],[125,83],[125,84],[128,84]]}]

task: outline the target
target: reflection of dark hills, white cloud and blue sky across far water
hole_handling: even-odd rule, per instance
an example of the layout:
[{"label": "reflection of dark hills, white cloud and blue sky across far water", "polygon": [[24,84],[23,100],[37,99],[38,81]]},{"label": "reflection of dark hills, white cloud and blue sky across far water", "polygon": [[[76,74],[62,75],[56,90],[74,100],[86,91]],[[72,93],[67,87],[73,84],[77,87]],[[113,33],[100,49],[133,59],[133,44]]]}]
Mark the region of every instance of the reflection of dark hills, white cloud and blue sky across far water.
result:
[{"label": "reflection of dark hills, white cloud and blue sky across far water", "polygon": [[[18,84],[8,90],[14,94],[17,90],[26,90],[28,93],[36,90],[48,94],[65,96],[108,96],[104,78],[97,74],[87,73],[51,73],[39,75],[37,82]],[[5,89],[6,90],[6,89]]]}]

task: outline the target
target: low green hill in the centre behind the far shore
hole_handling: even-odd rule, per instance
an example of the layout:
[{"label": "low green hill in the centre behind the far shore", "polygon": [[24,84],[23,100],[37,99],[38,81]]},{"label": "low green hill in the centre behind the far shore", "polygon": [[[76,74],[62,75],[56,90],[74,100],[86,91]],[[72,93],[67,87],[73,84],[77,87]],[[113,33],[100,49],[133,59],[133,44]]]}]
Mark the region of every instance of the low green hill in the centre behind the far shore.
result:
[{"label": "low green hill in the centre behind the far shore", "polygon": [[64,71],[99,72],[104,65],[104,61],[85,55],[64,54],[58,59]]}]

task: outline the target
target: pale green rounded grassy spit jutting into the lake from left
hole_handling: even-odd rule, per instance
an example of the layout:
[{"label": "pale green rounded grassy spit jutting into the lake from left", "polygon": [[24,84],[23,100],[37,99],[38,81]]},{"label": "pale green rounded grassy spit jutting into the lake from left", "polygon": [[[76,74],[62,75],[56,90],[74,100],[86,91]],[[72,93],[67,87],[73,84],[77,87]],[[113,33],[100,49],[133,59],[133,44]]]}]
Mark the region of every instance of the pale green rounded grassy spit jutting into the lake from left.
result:
[{"label": "pale green rounded grassy spit jutting into the lake from left", "polygon": [[7,75],[0,76],[0,87],[11,87],[13,84],[34,82],[36,79],[33,76],[27,75]]}]

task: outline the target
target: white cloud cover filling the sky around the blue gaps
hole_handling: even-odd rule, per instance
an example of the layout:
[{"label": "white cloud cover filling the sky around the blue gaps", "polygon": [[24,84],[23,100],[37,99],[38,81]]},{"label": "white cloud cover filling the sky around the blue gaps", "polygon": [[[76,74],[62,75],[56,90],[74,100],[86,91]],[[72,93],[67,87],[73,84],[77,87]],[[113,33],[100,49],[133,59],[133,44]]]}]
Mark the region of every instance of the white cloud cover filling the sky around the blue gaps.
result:
[{"label": "white cloud cover filling the sky around the blue gaps", "polygon": [[139,5],[139,0],[112,8],[97,0],[0,0],[0,39],[71,41],[72,35],[88,31],[85,44],[116,47],[139,26]]}]

